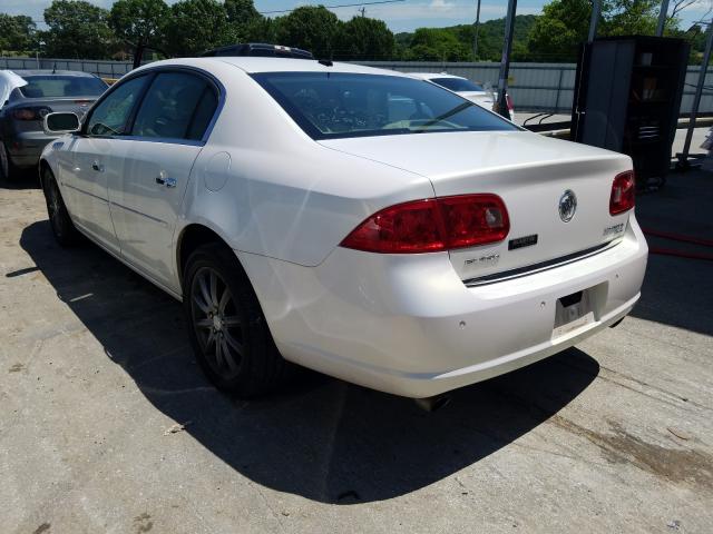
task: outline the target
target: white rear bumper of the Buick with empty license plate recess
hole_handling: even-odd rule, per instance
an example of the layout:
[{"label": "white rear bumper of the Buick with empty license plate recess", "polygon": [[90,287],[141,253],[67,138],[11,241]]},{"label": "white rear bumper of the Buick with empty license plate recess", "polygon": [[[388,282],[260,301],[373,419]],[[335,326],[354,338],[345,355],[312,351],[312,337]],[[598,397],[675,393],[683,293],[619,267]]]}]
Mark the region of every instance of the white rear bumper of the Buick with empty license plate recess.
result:
[{"label": "white rear bumper of the Buick with empty license plate recess", "polygon": [[[335,249],[309,268],[238,253],[286,359],[374,389],[427,397],[564,350],[624,317],[647,246],[631,217],[621,244],[573,264],[468,288],[447,253]],[[590,290],[594,319],[553,337],[557,299]]]}]

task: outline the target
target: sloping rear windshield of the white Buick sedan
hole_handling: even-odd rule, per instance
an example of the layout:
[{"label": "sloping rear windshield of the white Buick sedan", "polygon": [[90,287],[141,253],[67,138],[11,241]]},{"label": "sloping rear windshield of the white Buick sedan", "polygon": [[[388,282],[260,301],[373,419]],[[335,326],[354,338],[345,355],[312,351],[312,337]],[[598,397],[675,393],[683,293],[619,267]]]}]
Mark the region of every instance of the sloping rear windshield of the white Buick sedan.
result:
[{"label": "sloping rear windshield of the white Buick sedan", "polygon": [[518,129],[412,78],[340,72],[262,72],[253,78],[313,139]]}]

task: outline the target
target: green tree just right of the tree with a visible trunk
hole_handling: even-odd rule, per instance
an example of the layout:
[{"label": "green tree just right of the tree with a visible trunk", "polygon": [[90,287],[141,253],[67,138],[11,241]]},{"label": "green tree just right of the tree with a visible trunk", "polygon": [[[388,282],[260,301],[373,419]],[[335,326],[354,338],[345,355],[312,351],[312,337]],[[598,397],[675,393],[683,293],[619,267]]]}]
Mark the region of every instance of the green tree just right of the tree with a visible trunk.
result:
[{"label": "green tree just right of the tree with a visible trunk", "polygon": [[172,56],[196,56],[233,42],[227,12],[216,0],[182,0],[169,14],[164,34]]}]

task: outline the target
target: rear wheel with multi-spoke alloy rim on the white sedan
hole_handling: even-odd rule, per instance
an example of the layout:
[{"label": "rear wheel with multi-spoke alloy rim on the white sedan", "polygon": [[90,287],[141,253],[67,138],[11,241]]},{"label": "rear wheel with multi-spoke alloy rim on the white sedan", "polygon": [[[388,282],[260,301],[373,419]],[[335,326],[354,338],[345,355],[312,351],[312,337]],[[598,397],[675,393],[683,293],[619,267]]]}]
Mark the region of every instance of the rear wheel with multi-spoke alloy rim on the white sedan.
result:
[{"label": "rear wheel with multi-spoke alloy rim on the white sedan", "polygon": [[263,395],[284,383],[291,365],[277,350],[233,251],[221,244],[202,246],[184,273],[188,336],[211,382],[240,397]]}]

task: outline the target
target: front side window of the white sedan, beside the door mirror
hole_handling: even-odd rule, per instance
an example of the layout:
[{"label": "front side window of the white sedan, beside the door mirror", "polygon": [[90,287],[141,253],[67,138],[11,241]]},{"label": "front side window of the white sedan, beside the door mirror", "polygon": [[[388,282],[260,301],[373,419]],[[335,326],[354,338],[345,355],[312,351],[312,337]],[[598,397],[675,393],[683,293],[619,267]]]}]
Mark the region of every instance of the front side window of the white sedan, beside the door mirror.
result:
[{"label": "front side window of the white sedan, beside the door mirror", "polygon": [[148,78],[141,76],[118,86],[91,112],[87,123],[90,136],[126,136],[131,109]]}]

